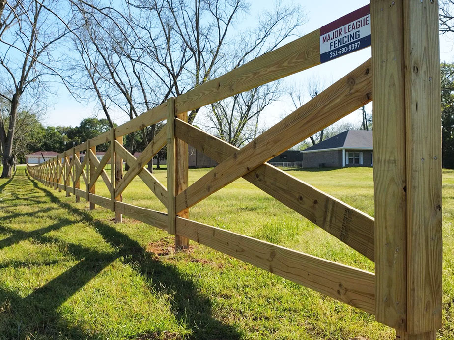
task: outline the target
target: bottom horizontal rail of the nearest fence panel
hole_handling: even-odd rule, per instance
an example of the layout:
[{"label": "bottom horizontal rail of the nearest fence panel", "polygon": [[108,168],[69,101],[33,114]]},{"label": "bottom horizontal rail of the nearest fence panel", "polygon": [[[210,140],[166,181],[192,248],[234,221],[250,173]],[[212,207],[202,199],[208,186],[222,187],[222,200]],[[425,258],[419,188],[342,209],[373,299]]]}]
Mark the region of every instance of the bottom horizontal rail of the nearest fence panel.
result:
[{"label": "bottom horizontal rail of the nearest fence panel", "polygon": [[372,273],[182,217],[176,218],[176,232],[365,312],[374,312]]}]

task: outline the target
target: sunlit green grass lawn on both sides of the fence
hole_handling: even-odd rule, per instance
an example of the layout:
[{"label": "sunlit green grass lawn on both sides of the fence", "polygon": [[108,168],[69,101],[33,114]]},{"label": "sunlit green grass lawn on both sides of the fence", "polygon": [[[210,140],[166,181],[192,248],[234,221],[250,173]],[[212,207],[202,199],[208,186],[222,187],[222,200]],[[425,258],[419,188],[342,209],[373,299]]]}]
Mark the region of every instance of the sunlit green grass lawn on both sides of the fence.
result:
[{"label": "sunlit green grass lawn on both sides of the fence", "polygon": [[[206,169],[190,170],[190,182]],[[372,169],[289,171],[373,216]],[[166,184],[164,170],[158,179]],[[81,185],[83,188],[83,185]],[[109,197],[102,180],[97,193]],[[136,178],[124,202],[165,211]],[[373,316],[30,180],[0,179],[0,339],[393,339]],[[190,209],[200,222],[373,271],[373,263],[238,180]],[[443,307],[454,339],[454,171],[443,173]]]}]

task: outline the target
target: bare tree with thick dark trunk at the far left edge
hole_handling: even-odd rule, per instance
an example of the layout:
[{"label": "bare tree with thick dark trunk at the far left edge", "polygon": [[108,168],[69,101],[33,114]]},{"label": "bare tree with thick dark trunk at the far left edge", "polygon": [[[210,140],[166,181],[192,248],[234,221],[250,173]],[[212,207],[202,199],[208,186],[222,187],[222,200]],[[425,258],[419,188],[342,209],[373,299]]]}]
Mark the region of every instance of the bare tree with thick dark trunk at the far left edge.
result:
[{"label": "bare tree with thick dark trunk at the far left edge", "polygon": [[[50,6],[58,6],[58,3],[51,2]],[[0,22],[0,96],[10,107],[7,126],[5,121],[0,121],[1,178],[5,178],[11,177],[15,164],[14,139],[22,97],[38,98],[43,89],[48,89],[52,78],[57,77],[66,85],[66,80],[53,67],[56,60],[52,52],[69,31],[60,25],[44,0],[7,2]]]}]

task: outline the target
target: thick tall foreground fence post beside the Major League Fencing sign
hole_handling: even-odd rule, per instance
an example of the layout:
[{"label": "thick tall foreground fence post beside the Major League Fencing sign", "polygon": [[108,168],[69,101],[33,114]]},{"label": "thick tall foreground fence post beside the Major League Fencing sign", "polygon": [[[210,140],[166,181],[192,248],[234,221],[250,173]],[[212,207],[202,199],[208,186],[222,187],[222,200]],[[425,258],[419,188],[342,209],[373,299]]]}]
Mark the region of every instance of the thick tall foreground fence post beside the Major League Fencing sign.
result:
[{"label": "thick tall foreground fence post beside the Major League Fencing sign", "polygon": [[441,327],[437,1],[373,0],[375,318],[397,339]]}]

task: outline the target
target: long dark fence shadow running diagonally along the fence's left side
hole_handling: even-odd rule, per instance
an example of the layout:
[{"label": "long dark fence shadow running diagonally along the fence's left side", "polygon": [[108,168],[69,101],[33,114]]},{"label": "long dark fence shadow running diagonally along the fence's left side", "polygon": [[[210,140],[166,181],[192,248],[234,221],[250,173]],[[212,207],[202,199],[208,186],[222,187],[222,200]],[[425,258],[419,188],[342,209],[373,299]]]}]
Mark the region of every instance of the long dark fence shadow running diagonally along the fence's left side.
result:
[{"label": "long dark fence shadow running diagonally along the fence's left side", "polygon": [[147,278],[150,287],[172,296],[169,302],[178,322],[192,328],[193,334],[189,339],[240,339],[241,334],[236,327],[223,324],[213,317],[210,299],[200,294],[194,282],[183,278],[175,267],[154,259],[137,241],[119,232],[112,225],[95,220],[89,213],[61,201],[51,191],[39,186],[28,174],[27,177],[52,203],[90,223],[107,243],[117,249],[115,258],[121,257],[123,262],[135,268]]}]

